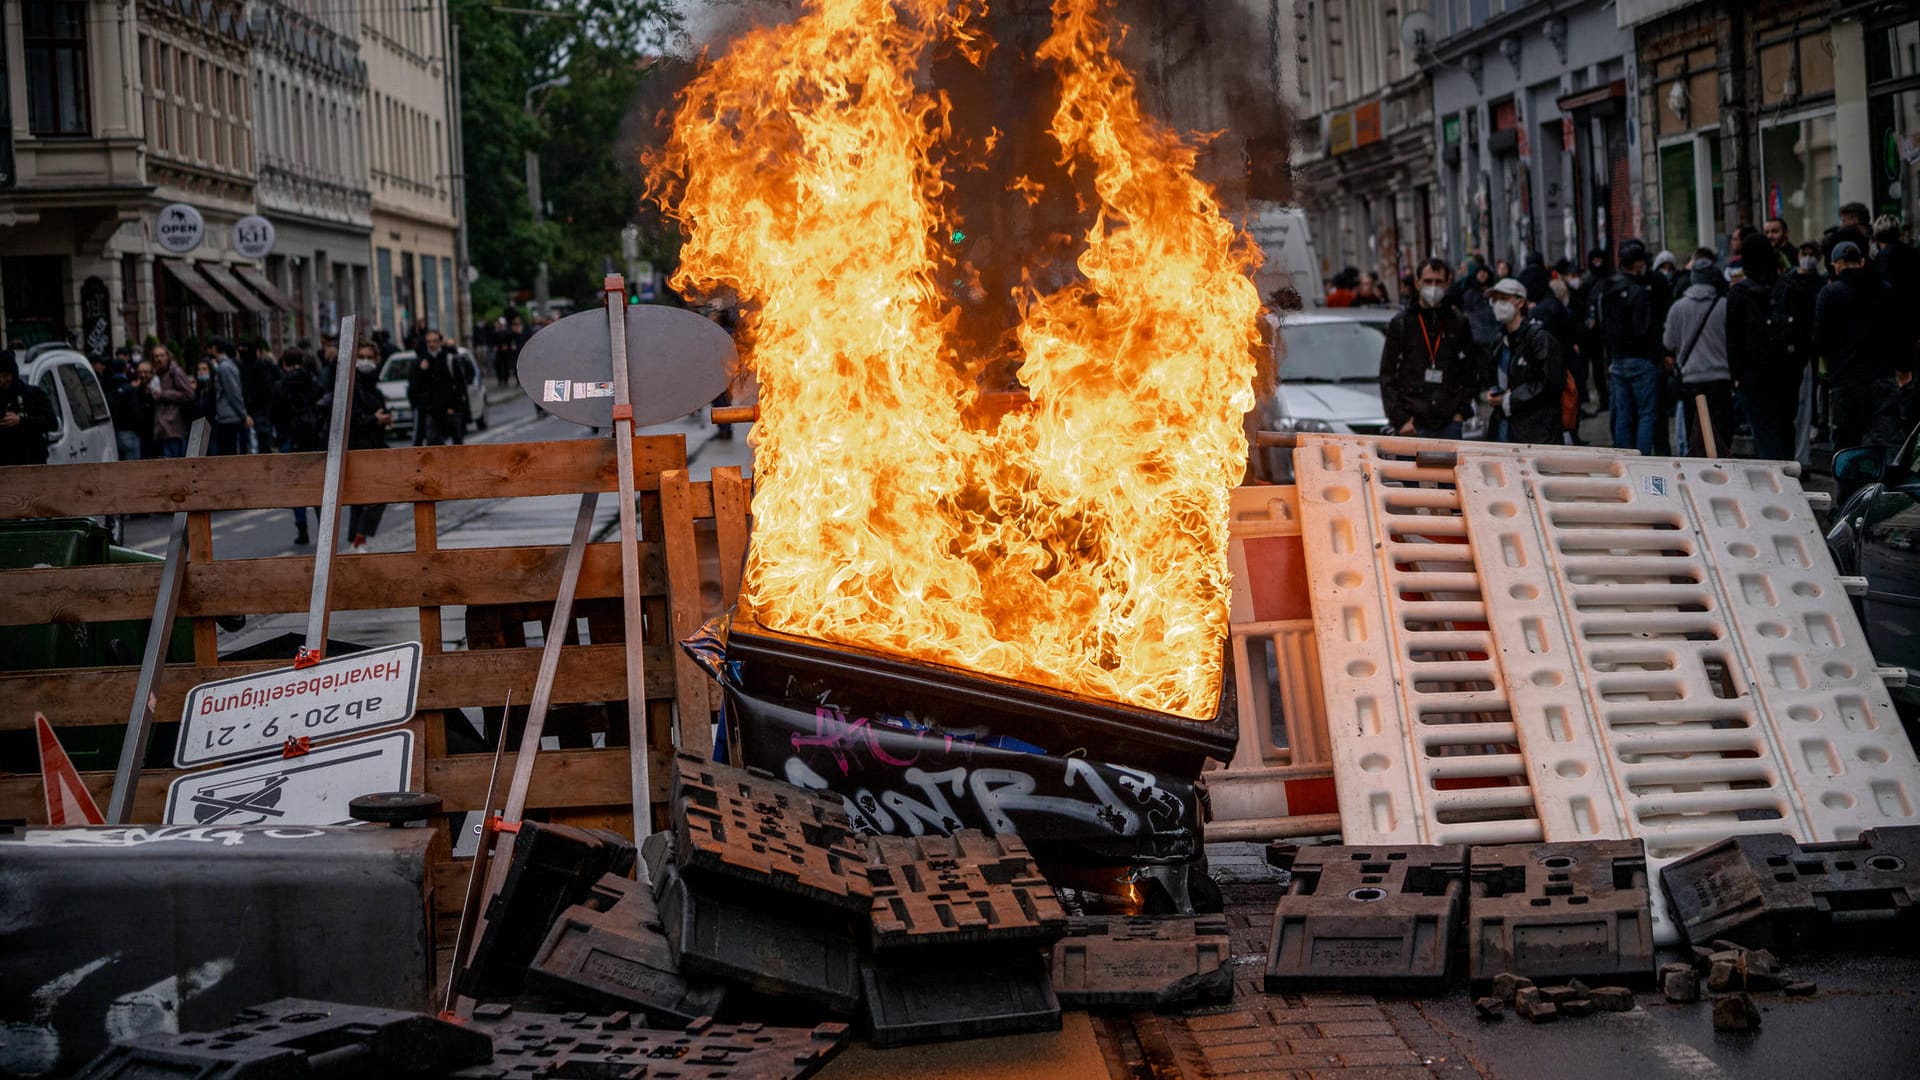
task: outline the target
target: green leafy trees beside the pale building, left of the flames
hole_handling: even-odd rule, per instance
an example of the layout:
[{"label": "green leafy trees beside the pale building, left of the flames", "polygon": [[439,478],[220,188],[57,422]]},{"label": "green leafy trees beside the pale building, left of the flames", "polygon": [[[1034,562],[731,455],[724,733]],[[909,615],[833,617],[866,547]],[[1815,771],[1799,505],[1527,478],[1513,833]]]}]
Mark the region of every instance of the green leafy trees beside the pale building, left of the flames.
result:
[{"label": "green leafy trees beside the pale building, left of the flames", "polygon": [[[467,242],[480,281],[474,317],[499,315],[513,290],[532,288],[547,261],[553,296],[589,296],[605,259],[620,259],[620,229],[639,186],[618,161],[620,125],[680,25],[668,0],[451,0],[461,29],[461,125]],[[566,86],[526,90],[564,75]],[[526,152],[540,154],[547,221],[526,198]]]}]

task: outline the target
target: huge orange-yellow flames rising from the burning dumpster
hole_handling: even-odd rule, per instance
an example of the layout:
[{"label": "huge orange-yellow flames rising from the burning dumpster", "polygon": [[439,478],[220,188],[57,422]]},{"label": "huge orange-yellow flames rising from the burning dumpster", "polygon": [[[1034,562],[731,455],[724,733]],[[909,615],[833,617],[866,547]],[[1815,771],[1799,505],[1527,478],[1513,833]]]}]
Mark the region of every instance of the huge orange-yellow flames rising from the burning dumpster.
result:
[{"label": "huge orange-yellow flames rising from the burning dumpster", "polygon": [[808,0],[691,83],[655,161],[687,234],[676,288],[747,311],[743,605],[791,634],[1210,719],[1258,256],[1194,146],[1142,111],[1108,0],[1054,0],[1035,60],[1058,77],[1043,119],[1083,208],[1077,275],[1021,286],[1008,340],[1033,404],[983,409],[987,357],[958,354],[943,292],[960,225],[943,163],[977,146],[927,77],[937,42],[977,63],[983,33],[966,0]]}]

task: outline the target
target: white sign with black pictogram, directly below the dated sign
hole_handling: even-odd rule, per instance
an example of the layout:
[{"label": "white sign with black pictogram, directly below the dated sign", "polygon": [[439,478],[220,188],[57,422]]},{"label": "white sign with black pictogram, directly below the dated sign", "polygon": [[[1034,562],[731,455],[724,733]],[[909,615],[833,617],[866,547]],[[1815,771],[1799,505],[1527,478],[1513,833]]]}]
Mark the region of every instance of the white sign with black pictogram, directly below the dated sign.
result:
[{"label": "white sign with black pictogram, directly below the dated sign", "polygon": [[188,773],[167,786],[165,824],[353,824],[348,803],[371,792],[403,792],[413,732],[386,732]]}]

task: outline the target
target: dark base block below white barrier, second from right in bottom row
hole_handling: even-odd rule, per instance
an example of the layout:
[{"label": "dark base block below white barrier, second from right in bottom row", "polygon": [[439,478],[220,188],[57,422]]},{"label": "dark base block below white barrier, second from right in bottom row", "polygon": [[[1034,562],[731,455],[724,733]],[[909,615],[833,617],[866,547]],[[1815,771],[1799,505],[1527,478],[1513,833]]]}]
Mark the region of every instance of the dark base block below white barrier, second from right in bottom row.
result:
[{"label": "dark base block below white barrier, second from right in bottom row", "polygon": [[1653,982],[1653,911],[1640,840],[1475,847],[1467,897],[1473,982]]}]

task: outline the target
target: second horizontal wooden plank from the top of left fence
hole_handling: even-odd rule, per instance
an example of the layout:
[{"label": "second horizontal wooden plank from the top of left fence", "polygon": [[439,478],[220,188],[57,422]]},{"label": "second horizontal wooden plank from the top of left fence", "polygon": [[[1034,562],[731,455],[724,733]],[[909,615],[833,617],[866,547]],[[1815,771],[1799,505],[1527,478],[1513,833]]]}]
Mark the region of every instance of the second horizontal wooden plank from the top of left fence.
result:
[{"label": "second horizontal wooden plank from the top of left fence", "polygon": [[[564,561],[564,546],[353,555],[334,567],[340,578],[334,584],[334,611],[551,600]],[[666,592],[666,563],[659,544],[639,546],[639,573],[643,594]],[[313,555],[188,565],[180,615],[305,611],[309,580]],[[0,626],[138,619],[152,613],[157,586],[159,563],[6,571],[0,573]],[[607,596],[620,596],[620,546],[591,544],[580,571],[580,600]],[[426,619],[420,621],[420,632],[430,636]]]}]

